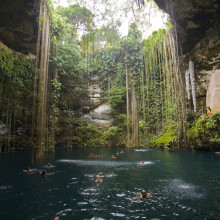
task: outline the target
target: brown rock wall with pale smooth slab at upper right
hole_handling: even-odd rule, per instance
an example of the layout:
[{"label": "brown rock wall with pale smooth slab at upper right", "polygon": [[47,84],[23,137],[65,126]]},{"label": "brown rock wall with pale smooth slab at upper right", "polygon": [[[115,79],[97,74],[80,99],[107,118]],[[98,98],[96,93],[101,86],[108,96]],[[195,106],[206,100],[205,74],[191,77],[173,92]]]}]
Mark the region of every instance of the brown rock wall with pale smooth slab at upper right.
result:
[{"label": "brown rock wall with pale smooth slab at upper right", "polygon": [[197,109],[220,111],[220,1],[154,1],[176,27],[185,66],[194,62]]}]

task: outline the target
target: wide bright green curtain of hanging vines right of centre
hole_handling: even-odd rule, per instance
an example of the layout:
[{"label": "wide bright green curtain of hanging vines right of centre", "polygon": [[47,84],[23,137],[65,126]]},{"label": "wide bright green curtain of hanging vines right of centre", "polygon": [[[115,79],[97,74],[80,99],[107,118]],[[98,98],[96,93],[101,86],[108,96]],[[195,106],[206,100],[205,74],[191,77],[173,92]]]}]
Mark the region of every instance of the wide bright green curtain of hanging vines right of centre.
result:
[{"label": "wide bright green curtain of hanging vines right of centre", "polygon": [[142,115],[145,133],[178,135],[182,124],[182,84],[173,30],[159,30],[144,42]]}]

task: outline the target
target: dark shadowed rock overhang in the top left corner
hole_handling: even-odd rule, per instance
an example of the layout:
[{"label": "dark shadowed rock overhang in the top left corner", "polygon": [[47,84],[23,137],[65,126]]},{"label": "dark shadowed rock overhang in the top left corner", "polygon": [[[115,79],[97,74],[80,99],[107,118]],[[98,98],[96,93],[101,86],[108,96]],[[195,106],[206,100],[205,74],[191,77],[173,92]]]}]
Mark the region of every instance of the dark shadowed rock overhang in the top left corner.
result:
[{"label": "dark shadowed rock overhang in the top left corner", "polygon": [[0,41],[9,48],[36,54],[39,0],[0,1]]}]

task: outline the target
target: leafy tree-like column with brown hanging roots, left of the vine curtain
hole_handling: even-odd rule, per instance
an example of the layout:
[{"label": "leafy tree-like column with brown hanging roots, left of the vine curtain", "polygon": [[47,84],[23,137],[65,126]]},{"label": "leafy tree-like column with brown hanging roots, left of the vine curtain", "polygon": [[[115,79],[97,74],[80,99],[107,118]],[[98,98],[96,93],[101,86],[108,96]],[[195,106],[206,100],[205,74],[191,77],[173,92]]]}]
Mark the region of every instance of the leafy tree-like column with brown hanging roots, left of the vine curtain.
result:
[{"label": "leafy tree-like column with brown hanging roots, left of the vine curtain", "polygon": [[[133,23],[130,26],[127,38],[121,42],[121,47],[125,51],[126,68],[126,101],[127,101],[127,132],[128,144],[139,145],[139,112],[138,95],[140,85],[140,75],[143,68],[141,32]],[[130,93],[131,90],[131,93]],[[130,116],[131,111],[131,116]],[[130,117],[132,119],[132,131],[130,139]]]}]

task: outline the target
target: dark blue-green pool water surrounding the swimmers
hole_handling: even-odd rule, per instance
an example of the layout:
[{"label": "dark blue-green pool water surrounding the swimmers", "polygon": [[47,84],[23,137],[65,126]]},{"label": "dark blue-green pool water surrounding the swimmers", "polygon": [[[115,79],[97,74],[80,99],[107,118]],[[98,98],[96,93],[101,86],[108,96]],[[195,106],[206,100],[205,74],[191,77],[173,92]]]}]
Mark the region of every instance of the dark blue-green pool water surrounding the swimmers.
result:
[{"label": "dark blue-green pool water surrounding the swimmers", "polygon": [[[220,219],[220,156],[124,149],[112,159],[117,150],[56,150],[37,161],[27,151],[2,155],[0,219]],[[48,162],[55,167],[42,177]],[[28,166],[36,172],[25,174]],[[142,189],[162,201],[131,204]]]}]

